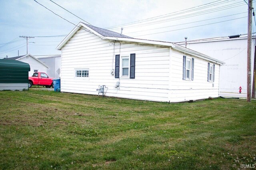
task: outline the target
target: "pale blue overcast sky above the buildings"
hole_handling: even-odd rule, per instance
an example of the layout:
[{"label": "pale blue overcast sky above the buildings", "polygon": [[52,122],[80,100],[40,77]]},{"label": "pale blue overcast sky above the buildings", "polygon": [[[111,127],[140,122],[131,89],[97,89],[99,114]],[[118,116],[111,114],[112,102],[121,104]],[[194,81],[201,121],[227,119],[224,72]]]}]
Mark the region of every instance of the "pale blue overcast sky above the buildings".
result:
[{"label": "pale blue overcast sky above the buildings", "polygon": [[[114,27],[110,30],[119,33],[123,27],[123,34],[134,38],[178,42],[184,41],[184,37],[192,40],[247,33],[248,6],[244,0],[52,0],[56,4],[37,1],[74,24],[82,20],[56,4],[94,26]],[[145,20],[148,18],[151,19]],[[0,0],[0,58],[15,57],[18,50],[19,55],[26,54],[26,40],[20,35],[67,35],[75,27],[68,21],[34,0]],[[122,25],[135,21],[139,22]],[[60,54],[56,47],[64,37],[31,38],[28,53]],[[6,44],[12,40],[14,43]]]}]

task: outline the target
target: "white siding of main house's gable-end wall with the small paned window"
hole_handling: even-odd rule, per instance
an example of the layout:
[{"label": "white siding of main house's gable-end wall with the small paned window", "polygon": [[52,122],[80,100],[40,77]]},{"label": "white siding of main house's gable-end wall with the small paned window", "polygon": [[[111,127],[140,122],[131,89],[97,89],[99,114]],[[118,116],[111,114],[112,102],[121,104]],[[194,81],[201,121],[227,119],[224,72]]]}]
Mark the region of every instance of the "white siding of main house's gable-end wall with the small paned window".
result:
[{"label": "white siding of main house's gable-end wall with the small paned window", "polygon": [[[170,48],[123,41],[120,47],[116,42],[114,54],[119,55],[120,50],[120,78],[114,78],[110,74],[115,67],[113,46],[109,40],[83,29],[77,31],[62,47],[62,92],[98,95],[98,86],[106,85],[106,96],[168,102]],[[121,72],[122,57],[130,59],[132,53],[136,54],[135,79],[122,76]],[[130,61],[128,64],[130,66]],[[75,78],[77,68],[90,68],[90,80]],[[120,89],[116,89],[114,86],[119,80]]]}]

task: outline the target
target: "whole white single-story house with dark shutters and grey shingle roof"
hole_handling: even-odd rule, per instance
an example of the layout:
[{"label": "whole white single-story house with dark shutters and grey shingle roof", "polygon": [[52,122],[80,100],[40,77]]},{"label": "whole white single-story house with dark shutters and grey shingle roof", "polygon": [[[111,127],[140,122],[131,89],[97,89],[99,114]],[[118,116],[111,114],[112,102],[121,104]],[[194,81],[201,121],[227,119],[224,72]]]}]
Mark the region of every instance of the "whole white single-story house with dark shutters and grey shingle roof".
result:
[{"label": "whole white single-story house with dark shutters and grey shingle roof", "polygon": [[79,23],[58,45],[61,91],[158,102],[219,96],[221,61],[170,42]]}]

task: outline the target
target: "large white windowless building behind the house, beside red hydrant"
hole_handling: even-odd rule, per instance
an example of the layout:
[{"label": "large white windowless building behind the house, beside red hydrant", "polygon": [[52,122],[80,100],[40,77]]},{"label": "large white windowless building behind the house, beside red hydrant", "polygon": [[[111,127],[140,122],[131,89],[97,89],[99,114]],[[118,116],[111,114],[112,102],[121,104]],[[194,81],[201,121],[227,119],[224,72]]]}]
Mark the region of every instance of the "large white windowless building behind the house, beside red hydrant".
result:
[{"label": "large white windowless building behind the house, beside red hydrant", "polygon": [[[178,44],[184,46],[184,42]],[[252,36],[252,70],[254,46],[255,36]],[[247,35],[192,40],[187,41],[187,47],[226,63],[220,68],[220,96],[247,96]]]}]

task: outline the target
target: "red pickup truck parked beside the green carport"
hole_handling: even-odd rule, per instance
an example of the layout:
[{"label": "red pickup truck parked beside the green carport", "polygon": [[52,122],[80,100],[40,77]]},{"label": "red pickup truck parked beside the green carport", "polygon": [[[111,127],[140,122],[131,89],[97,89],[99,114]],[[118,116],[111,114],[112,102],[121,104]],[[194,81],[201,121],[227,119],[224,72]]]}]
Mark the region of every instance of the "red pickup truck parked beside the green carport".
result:
[{"label": "red pickup truck parked beside the green carport", "polygon": [[44,72],[35,72],[31,77],[28,77],[28,87],[32,87],[32,85],[36,86],[45,86],[46,88],[54,88],[52,79]]}]

